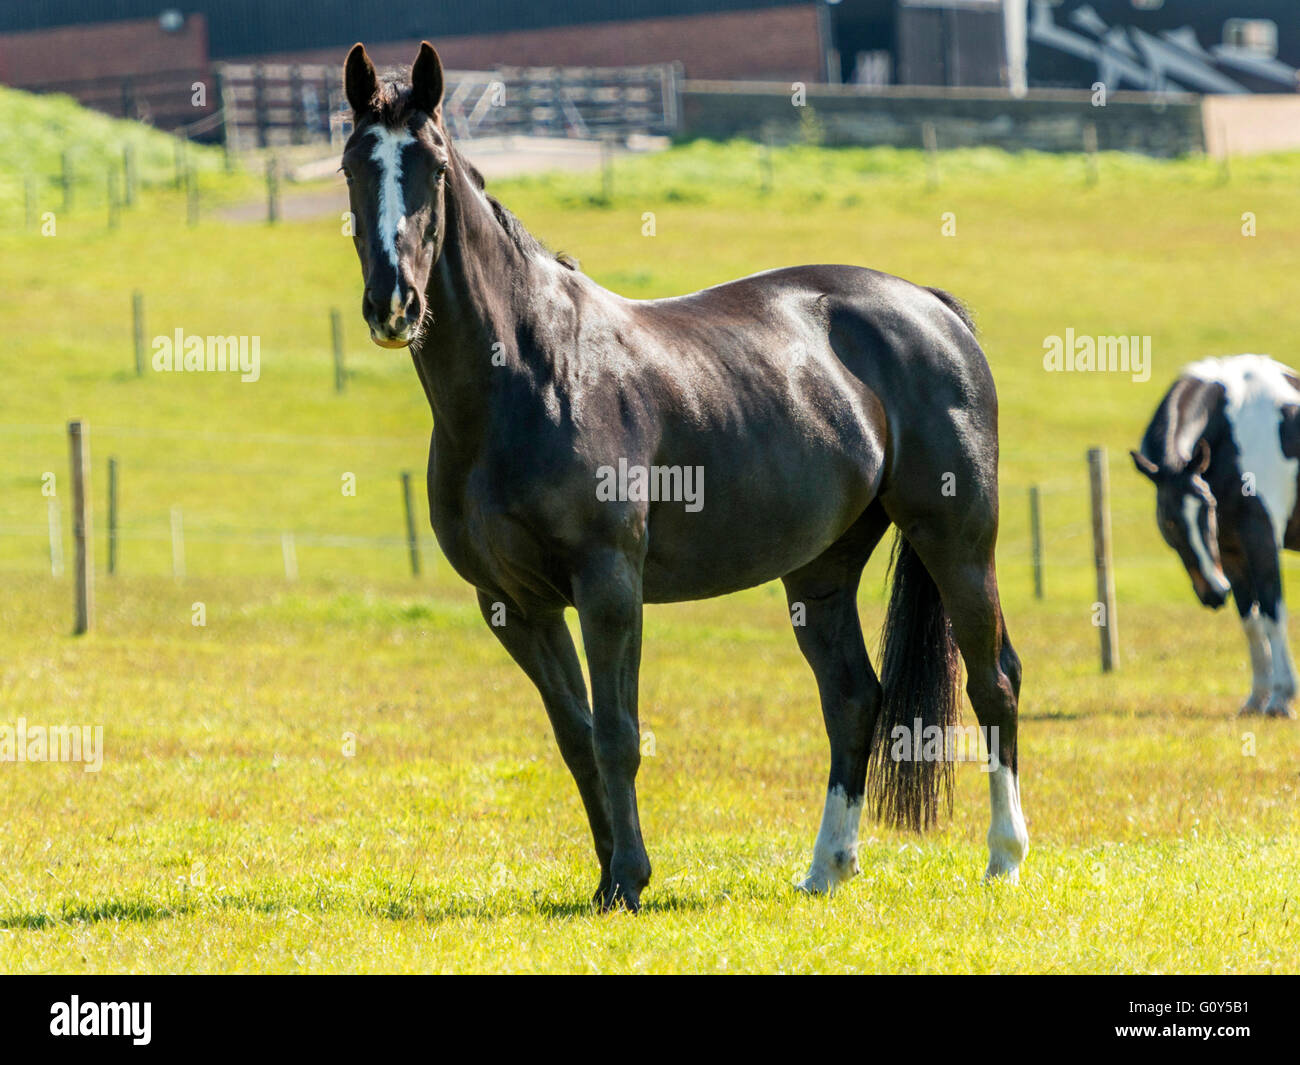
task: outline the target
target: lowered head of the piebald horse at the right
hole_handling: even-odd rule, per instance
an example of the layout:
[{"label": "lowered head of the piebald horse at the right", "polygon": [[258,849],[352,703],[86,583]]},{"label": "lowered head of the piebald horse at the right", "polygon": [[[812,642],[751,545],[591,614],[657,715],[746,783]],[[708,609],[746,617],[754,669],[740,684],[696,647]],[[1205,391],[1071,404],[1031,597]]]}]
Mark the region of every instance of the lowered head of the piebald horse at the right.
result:
[{"label": "lowered head of the piebald horse at the right", "polygon": [[1138,472],[1156,484],[1156,524],[1160,534],[1182,559],[1196,597],[1209,607],[1223,606],[1232,586],[1223,576],[1218,550],[1217,503],[1201,476],[1210,464],[1202,440],[1191,462],[1179,469],[1157,466],[1140,451],[1130,453]]}]

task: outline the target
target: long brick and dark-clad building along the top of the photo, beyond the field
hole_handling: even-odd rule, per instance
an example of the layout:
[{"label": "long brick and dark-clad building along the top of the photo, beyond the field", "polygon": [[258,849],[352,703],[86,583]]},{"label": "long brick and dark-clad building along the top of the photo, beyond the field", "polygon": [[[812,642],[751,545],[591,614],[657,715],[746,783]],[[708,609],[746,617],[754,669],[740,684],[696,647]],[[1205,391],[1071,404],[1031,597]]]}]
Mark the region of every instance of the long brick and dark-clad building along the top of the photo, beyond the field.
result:
[{"label": "long brick and dark-clad building along the top of the photo, beyond the field", "polygon": [[[456,70],[680,62],[692,79],[1292,92],[1300,0],[40,0],[0,5],[0,82],[169,125],[214,62],[354,40]],[[142,104],[148,101],[151,105]],[[194,120],[181,108],[172,125]]]}]

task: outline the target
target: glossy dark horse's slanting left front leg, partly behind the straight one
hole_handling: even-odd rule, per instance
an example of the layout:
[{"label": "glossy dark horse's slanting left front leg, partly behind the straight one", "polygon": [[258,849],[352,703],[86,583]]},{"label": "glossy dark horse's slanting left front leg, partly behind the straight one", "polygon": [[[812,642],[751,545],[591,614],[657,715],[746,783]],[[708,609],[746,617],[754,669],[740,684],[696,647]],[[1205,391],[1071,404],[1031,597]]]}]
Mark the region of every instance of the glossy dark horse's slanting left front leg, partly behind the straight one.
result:
[{"label": "glossy dark horse's slanting left front leg, partly behind the straight one", "polygon": [[[502,610],[504,607],[504,610]],[[541,692],[546,715],[560,748],[564,765],[577,782],[578,795],[586,808],[586,819],[601,862],[601,886],[595,899],[602,901],[610,891],[610,858],[614,832],[604,802],[604,788],[595,766],[592,744],[592,711],[586,703],[586,683],[577,661],[573,637],[564,624],[563,611],[525,616],[495,596],[478,593],[478,609],[500,640],[510,657]]]}]

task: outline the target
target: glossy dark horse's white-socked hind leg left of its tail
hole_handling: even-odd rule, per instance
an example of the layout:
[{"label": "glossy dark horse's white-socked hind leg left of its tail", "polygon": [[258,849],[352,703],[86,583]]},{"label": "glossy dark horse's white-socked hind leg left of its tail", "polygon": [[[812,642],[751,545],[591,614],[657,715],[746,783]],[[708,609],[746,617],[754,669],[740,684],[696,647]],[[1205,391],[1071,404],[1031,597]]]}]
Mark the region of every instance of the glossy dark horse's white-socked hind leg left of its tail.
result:
[{"label": "glossy dark horse's white-socked hind leg left of its tail", "polygon": [[871,550],[889,525],[872,506],[819,558],[784,577],[800,650],[812,667],[831,740],[826,808],[802,891],[824,893],[858,871],[858,822],[880,681],[862,638],[857,592]]}]

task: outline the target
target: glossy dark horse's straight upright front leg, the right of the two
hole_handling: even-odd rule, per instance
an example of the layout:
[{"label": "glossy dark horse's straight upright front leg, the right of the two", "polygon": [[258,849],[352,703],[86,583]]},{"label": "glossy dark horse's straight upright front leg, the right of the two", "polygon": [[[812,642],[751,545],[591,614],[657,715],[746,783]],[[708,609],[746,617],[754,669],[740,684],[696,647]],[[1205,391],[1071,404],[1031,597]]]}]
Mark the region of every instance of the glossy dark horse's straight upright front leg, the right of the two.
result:
[{"label": "glossy dark horse's straight upright front leg, the right of the two", "polygon": [[592,674],[595,763],[604,784],[614,831],[610,883],[597,901],[636,910],[650,883],[650,858],[637,814],[641,727],[637,675],[641,668],[641,568],[630,557],[607,550],[589,559],[573,580]]}]

